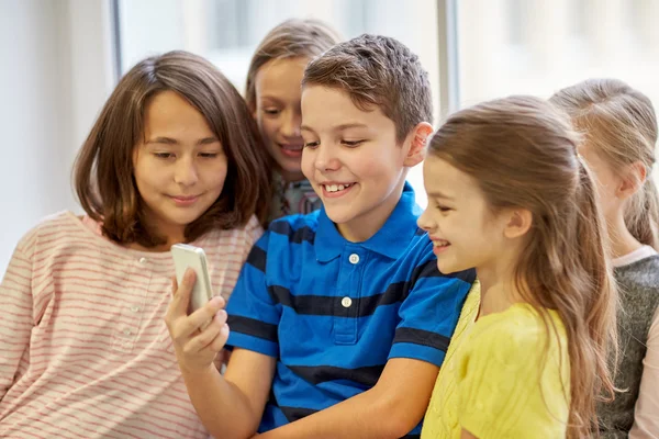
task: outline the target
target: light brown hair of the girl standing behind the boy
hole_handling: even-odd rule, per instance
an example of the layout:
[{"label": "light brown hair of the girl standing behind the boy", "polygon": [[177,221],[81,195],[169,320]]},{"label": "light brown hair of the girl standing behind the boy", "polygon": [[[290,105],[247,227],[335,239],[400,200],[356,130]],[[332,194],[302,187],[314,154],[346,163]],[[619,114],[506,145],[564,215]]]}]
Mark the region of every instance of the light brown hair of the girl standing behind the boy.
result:
[{"label": "light brown hair of the girl standing behind the boy", "polygon": [[340,40],[336,31],[320,20],[290,19],[275,26],[256,48],[249,63],[245,86],[249,109],[253,112],[256,109],[256,75],[266,63],[282,58],[313,58]]}]

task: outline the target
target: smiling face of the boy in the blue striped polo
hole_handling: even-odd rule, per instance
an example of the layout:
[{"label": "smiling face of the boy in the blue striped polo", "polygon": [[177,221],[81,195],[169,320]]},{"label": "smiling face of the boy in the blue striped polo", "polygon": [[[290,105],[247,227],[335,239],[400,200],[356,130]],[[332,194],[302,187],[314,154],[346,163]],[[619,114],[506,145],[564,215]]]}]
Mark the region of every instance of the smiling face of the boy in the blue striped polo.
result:
[{"label": "smiling face of the boy in the blue striped polo", "polygon": [[302,92],[302,171],[349,240],[372,236],[399,201],[410,140],[396,142],[380,109],[361,111],[340,90]]}]

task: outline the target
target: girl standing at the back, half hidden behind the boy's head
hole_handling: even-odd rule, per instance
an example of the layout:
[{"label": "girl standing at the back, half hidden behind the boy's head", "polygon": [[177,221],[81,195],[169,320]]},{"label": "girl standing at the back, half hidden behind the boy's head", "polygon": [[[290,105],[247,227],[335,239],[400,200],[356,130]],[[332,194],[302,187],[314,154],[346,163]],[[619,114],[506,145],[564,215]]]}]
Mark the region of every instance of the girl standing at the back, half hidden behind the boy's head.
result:
[{"label": "girl standing at the back, half hidden behind the boy's head", "polygon": [[304,144],[300,134],[302,75],[312,58],[339,40],[321,21],[291,19],[273,27],[252,57],[245,99],[271,157],[270,221],[321,207],[300,169]]}]

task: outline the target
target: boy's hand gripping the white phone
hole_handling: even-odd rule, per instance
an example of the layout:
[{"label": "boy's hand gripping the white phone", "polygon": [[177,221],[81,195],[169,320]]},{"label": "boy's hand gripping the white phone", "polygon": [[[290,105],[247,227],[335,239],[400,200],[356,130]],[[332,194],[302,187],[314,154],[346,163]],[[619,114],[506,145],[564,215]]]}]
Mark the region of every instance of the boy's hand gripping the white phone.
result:
[{"label": "boy's hand gripping the white phone", "polygon": [[[180,288],[176,279],[172,280],[174,299],[165,315],[179,368],[183,372],[200,372],[213,365],[215,356],[224,348],[228,338],[226,311],[223,309],[225,302],[221,296],[213,297],[188,315],[194,281],[194,271],[190,269],[186,272]],[[204,327],[211,319],[211,324]]]}]

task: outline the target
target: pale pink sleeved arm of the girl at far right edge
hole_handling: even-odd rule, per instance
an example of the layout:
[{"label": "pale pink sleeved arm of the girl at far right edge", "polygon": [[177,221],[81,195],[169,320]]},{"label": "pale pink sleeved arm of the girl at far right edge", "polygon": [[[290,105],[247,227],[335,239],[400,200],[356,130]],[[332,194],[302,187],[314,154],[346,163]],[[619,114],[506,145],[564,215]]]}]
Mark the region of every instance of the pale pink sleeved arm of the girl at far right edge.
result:
[{"label": "pale pink sleeved arm of the girl at far right edge", "polygon": [[643,360],[643,376],[636,401],[630,439],[659,437],[659,308],[648,333],[648,350]]}]

